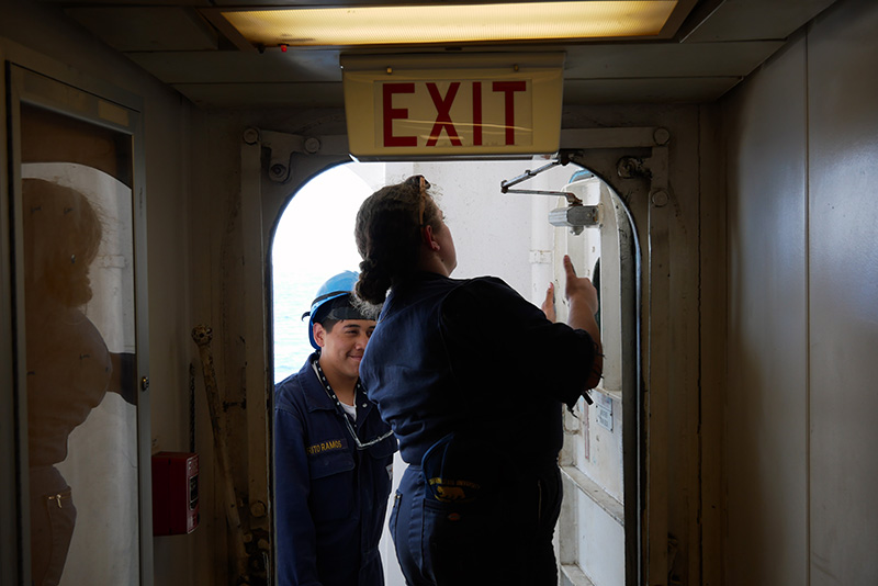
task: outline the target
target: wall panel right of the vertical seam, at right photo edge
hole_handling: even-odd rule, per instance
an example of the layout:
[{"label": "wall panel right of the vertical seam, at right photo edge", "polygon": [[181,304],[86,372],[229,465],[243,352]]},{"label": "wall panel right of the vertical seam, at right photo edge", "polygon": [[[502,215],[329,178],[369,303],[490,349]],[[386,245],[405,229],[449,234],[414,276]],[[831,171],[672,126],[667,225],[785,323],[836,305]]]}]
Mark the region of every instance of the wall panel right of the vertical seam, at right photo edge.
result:
[{"label": "wall panel right of the vertical seam, at right photo edge", "polygon": [[809,35],[811,584],[878,583],[878,4]]}]

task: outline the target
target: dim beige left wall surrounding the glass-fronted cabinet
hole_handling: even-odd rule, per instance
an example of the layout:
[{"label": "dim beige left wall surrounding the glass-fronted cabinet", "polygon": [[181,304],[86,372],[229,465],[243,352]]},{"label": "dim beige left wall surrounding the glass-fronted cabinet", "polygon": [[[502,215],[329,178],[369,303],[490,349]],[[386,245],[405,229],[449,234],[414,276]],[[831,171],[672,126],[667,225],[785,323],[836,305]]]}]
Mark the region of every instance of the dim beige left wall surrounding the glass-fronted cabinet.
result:
[{"label": "dim beige left wall surrounding the glass-fronted cabinet", "polygon": [[[26,65],[37,72],[44,72],[41,64],[54,64],[67,71],[74,82],[91,80],[131,93],[143,102],[153,449],[188,451],[189,364],[199,364],[198,349],[190,336],[193,318],[188,236],[192,232],[188,204],[191,193],[188,128],[193,108],[176,91],[70,21],[57,4],[0,0],[0,50],[5,58],[12,56],[8,48],[11,44],[33,55],[34,59]],[[16,55],[21,53],[15,50]],[[199,407],[203,407],[202,397]],[[210,427],[204,418],[201,421],[196,444],[207,452],[201,458],[201,498],[212,503]],[[225,523],[225,519],[218,519]],[[192,536],[155,538],[156,584],[185,586],[215,582],[216,563],[209,551],[213,523],[212,511],[202,507],[201,527]],[[5,579],[11,570],[2,568],[3,584],[12,583]]]}]

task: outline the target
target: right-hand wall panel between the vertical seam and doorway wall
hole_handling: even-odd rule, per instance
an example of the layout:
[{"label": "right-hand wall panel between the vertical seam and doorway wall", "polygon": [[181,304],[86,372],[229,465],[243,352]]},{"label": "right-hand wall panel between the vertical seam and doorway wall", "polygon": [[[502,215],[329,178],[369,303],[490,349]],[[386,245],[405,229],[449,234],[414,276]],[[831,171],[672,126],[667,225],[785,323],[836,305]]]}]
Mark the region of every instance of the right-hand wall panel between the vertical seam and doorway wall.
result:
[{"label": "right-hand wall panel between the vertical seam and doorway wall", "polygon": [[729,584],[807,584],[803,45],[727,120]]}]

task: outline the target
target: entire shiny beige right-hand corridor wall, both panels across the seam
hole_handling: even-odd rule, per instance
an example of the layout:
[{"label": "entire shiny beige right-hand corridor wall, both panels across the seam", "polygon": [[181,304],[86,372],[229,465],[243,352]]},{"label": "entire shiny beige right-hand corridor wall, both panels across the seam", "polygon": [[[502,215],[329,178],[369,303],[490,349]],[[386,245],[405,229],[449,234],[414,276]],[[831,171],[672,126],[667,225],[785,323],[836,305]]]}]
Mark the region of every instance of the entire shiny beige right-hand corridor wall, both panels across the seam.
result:
[{"label": "entire shiny beige right-hand corridor wall, both panels across the seam", "polygon": [[876,27],[842,0],[723,104],[730,586],[878,582]]}]

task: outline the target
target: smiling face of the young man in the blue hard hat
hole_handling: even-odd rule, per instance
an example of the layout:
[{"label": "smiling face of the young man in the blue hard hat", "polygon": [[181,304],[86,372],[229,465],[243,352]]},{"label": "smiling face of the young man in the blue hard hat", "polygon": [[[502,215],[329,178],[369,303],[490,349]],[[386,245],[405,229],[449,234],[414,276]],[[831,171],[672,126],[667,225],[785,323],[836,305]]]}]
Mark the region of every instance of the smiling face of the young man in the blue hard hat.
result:
[{"label": "smiling face of the young man in the blue hard hat", "polygon": [[360,376],[360,361],[375,322],[341,319],[331,326],[314,324],[314,340],[320,347],[320,368],[330,384],[353,384]]}]

